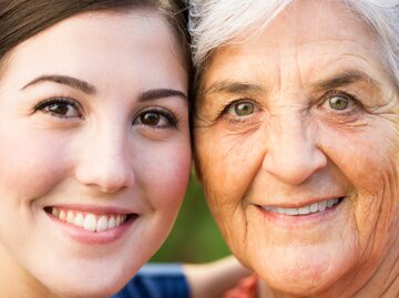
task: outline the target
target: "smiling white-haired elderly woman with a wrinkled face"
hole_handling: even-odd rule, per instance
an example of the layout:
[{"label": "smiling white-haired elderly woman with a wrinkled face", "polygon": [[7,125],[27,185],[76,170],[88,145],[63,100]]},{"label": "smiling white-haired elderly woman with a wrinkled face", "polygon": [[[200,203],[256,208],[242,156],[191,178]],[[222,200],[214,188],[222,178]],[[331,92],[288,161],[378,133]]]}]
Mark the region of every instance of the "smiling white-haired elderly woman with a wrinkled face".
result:
[{"label": "smiling white-haired elderly woman with a wrinkled face", "polygon": [[191,30],[198,176],[250,297],[399,297],[399,1],[192,0]]}]

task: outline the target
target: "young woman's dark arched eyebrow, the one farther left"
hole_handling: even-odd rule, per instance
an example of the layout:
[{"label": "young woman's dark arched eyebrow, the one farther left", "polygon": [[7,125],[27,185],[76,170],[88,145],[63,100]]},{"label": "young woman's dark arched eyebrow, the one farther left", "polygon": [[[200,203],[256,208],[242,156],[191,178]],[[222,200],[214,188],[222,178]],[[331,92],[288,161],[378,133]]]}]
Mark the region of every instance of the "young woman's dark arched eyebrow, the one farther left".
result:
[{"label": "young woman's dark arched eyebrow, the one farther left", "polygon": [[29,82],[28,84],[25,84],[21,90],[24,90],[24,89],[27,89],[29,86],[32,86],[34,84],[42,83],[42,82],[54,82],[54,83],[58,83],[58,84],[68,85],[68,86],[71,86],[73,89],[80,90],[83,93],[86,93],[89,95],[93,95],[96,92],[95,86],[88,83],[86,81],[75,79],[75,78],[72,78],[72,76],[68,76],[68,75],[59,75],[59,74],[50,74],[50,75],[38,76],[34,80],[32,80],[31,82]]}]

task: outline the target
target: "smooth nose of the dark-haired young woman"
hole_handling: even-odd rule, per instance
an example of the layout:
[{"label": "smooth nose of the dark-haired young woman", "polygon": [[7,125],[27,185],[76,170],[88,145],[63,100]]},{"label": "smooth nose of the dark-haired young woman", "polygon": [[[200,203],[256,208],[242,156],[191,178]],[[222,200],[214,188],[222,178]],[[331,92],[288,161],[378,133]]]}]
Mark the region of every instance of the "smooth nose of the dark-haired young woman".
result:
[{"label": "smooth nose of the dark-haired young woman", "polygon": [[133,186],[134,172],[126,133],[112,127],[95,130],[83,143],[75,167],[81,184],[104,193]]}]

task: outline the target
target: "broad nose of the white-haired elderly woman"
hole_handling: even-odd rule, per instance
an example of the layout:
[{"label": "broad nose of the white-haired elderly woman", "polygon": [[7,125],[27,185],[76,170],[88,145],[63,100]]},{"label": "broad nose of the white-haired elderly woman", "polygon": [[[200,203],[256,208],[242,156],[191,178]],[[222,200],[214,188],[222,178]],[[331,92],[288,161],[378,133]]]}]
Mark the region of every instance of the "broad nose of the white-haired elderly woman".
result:
[{"label": "broad nose of the white-haired elderly woman", "polygon": [[327,164],[327,157],[316,143],[315,127],[300,115],[285,115],[267,135],[267,152],[263,167],[278,179],[299,185]]}]

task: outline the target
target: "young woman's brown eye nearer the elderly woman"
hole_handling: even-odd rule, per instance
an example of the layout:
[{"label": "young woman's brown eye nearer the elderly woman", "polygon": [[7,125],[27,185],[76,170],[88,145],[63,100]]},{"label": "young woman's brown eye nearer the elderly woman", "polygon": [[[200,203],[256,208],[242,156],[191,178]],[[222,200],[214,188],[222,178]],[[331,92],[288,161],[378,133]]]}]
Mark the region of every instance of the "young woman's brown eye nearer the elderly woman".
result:
[{"label": "young woman's brown eye nearer the elderly woman", "polygon": [[172,113],[161,109],[144,111],[133,120],[133,124],[161,129],[176,126],[176,123],[177,120]]}]

